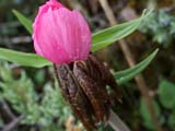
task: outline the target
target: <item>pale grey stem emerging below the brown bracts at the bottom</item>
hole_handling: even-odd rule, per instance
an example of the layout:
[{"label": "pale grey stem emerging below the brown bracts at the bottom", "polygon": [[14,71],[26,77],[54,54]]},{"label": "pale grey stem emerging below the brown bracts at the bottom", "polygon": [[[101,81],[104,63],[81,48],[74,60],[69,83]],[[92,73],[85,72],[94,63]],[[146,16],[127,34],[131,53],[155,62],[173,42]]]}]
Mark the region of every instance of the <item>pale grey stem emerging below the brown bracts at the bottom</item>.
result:
[{"label": "pale grey stem emerging below the brown bracts at the bottom", "polygon": [[110,110],[110,117],[108,122],[115,131],[130,131],[130,129],[122,122],[122,120],[113,110]]}]

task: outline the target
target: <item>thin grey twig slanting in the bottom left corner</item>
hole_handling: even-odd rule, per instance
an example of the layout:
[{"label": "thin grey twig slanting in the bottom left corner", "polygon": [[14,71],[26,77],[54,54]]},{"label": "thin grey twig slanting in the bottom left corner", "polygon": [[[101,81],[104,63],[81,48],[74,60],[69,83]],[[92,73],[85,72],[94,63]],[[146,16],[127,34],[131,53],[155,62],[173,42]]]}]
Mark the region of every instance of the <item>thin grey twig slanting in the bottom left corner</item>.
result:
[{"label": "thin grey twig slanting in the bottom left corner", "polygon": [[12,122],[10,122],[8,126],[5,126],[2,129],[2,131],[12,131],[23,118],[24,118],[24,116],[20,116],[18,118],[15,118]]}]

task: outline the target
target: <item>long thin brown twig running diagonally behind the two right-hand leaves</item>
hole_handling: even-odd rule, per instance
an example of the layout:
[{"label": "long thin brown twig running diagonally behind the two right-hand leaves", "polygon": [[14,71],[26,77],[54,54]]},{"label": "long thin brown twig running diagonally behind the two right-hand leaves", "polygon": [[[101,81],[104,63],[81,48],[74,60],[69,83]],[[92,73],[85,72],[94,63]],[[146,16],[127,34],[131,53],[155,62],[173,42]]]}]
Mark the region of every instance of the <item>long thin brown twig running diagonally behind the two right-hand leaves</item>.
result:
[{"label": "long thin brown twig running diagonally behind the two right-hand leaves", "polygon": [[[102,5],[109,23],[110,23],[110,25],[117,24],[116,17],[115,17],[107,0],[100,0],[100,3]],[[127,43],[125,40],[119,40],[119,46],[120,46],[129,66],[133,67],[136,64],[136,61],[133,59],[133,56],[132,56]],[[136,82],[138,84],[138,87],[139,87],[140,92],[141,92],[141,94],[142,94],[142,96],[145,100],[145,104],[149,108],[149,112],[150,112],[151,118],[152,118],[152,120],[155,124],[156,130],[158,131],[163,131],[163,129],[161,128],[161,126],[158,121],[158,118],[155,116],[155,111],[154,111],[154,108],[153,108],[153,105],[152,105],[152,98],[149,96],[149,91],[148,91],[148,87],[147,87],[147,84],[145,84],[145,81],[144,81],[143,76],[141,74],[137,75],[135,78],[135,80],[136,80]]]}]

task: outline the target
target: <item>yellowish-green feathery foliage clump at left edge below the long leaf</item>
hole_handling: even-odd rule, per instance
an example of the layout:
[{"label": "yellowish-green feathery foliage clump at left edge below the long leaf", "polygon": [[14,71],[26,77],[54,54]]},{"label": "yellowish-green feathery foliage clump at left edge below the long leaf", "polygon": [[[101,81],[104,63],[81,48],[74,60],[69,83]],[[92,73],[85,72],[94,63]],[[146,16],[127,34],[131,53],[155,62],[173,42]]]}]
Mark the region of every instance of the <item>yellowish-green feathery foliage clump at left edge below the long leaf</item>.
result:
[{"label": "yellowish-green feathery foliage clump at left edge below the long leaf", "polygon": [[[11,102],[16,111],[27,114],[31,109],[33,109],[32,107],[34,107],[37,100],[37,95],[33,88],[33,83],[28,78],[26,78],[25,72],[22,72],[19,80],[14,80],[12,72],[8,69],[10,69],[10,67],[7,63],[4,66],[1,63],[1,96]],[[26,108],[28,108],[28,110],[26,110]]]}]

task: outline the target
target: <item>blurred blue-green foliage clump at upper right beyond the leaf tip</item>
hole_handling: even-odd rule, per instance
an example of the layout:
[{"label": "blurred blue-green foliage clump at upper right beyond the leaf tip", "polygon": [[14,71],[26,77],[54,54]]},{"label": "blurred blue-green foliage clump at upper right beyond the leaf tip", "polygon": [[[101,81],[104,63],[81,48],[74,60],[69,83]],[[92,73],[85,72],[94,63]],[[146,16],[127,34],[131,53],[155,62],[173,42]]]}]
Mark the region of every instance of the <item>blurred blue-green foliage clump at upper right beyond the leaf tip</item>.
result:
[{"label": "blurred blue-green foliage clump at upper right beyond the leaf tip", "polygon": [[153,41],[168,47],[175,38],[175,16],[164,10],[152,13],[140,29],[153,37]]}]

